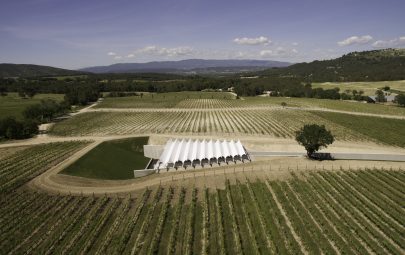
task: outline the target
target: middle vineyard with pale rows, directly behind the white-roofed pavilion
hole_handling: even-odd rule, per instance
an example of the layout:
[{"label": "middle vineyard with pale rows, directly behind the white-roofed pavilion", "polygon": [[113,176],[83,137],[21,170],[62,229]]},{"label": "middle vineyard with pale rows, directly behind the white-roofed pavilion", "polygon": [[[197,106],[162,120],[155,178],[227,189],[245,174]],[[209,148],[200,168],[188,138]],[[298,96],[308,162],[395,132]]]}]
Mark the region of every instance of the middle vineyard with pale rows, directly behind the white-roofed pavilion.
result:
[{"label": "middle vineyard with pale rows, directly behind the white-roofed pavilion", "polygon": [[243,134],[293,137],[305,123],[325,124],[340,140],[366,139],[331,120],[289,109],[90,112],[57,123],[51,133],[61,136],[104,136],[151,133]]}]

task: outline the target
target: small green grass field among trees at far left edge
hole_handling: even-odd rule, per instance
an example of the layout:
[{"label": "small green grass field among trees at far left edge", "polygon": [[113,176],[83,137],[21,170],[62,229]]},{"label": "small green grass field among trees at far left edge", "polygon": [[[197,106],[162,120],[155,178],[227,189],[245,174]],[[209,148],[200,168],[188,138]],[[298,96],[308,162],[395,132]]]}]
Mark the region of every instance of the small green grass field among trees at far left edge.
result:
[{"label": "small green grass field among trees at far left edge", "polygon": [[8,93],[7,96],[0,96],[0,119],[8,116],[22,118],[22,112],[27,106],[39,103],[43,99],[62,101],[63,97],[62,94],[38,94],[31,99],[22,99],[17,93]]}]

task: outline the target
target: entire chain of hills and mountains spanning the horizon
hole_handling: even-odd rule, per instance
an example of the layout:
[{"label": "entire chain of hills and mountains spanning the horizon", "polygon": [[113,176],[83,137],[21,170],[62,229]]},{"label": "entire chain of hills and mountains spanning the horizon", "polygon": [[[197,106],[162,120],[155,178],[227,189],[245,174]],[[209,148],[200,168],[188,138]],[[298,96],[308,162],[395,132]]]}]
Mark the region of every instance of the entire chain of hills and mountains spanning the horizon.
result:
[{"label": "entire chain of hills and mountains spanning the horizon", "polygon": [[261,77],[296,77],[308,82],[405,80],[405,49],[352,52],[342,57],[290,64],[266,60],[203,60],[121,63],[77,71],[39,66],[0,64],[0,77],[67,76],[89,73],[245,73]]}]

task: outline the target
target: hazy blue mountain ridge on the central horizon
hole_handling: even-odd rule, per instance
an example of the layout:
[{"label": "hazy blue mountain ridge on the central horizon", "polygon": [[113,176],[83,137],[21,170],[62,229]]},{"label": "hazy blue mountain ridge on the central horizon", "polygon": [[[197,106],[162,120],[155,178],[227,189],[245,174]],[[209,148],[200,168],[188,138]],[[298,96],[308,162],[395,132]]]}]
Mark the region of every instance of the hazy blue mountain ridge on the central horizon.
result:
[{"label": "hazy blue mountain ridge on the central horizon", "polygon": [[258,71],[273,67],[286,67],[288,62],[267,60],[206,60],[186,59],[179,61],[154,61],[148,63],[119,63],[109,66],[82,68],[79,71],[91,73],[238,73]]}]

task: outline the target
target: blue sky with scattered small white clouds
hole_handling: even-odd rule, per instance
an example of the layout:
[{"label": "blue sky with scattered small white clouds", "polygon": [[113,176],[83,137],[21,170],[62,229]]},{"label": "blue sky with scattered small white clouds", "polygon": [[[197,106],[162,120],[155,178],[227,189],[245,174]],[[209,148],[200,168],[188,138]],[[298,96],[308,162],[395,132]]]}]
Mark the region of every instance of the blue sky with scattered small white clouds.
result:
[{"label": "blue sky with scattered small white clouds", "polygon": [[404,0],[1,0],[0,63],[308,62],[405,48]]}]

